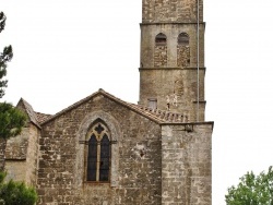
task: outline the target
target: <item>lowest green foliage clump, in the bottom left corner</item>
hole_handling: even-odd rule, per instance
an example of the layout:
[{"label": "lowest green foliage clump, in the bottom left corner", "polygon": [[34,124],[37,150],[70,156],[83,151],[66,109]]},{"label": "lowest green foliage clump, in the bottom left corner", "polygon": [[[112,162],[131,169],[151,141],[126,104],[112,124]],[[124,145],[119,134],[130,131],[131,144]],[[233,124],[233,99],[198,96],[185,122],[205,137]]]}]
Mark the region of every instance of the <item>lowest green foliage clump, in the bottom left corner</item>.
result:
[{"label": "lowest green foliage clump, in the bottom left corner", "polygon": [[[0,176],[5,176],[0,172]],[[27,188],[24,182],[0,183],[0,204],[4,205],[34,205],[37,202],[37,193],[33,188]]]}]

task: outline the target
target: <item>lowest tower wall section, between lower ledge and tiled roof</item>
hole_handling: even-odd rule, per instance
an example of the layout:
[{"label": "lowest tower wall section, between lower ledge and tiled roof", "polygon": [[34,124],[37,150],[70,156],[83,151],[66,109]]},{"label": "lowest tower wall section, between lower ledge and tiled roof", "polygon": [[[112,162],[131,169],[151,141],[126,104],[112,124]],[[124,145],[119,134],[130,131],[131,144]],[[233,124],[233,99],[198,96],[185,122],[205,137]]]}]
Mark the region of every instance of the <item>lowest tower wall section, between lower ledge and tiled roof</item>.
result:
[{"label": "lowest tower wall section, between lower ledge and tiled roof", "polygon": [[[200,69],[200,100],[204,100],[204,69]],[[189,121],[197,119],[195,69],[141,69],[140,104],[147,107],[149,98],[157,99],[157,108],[179,112]],[[200,121],[204,120],[205,104],[200,104]]]}]

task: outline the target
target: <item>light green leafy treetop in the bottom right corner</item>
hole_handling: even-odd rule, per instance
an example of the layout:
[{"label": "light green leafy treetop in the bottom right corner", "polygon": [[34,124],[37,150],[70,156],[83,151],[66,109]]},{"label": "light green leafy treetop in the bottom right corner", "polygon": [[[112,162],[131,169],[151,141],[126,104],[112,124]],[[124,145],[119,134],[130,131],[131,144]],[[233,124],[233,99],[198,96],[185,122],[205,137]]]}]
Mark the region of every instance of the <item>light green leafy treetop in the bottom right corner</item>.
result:
[{"label": "light green leafy treetop in the bottom right corner", "polygon": [[273,169],[256,176],[252,171],[240,178],[237,186],[228,189],[227,205],[273,205]]}]

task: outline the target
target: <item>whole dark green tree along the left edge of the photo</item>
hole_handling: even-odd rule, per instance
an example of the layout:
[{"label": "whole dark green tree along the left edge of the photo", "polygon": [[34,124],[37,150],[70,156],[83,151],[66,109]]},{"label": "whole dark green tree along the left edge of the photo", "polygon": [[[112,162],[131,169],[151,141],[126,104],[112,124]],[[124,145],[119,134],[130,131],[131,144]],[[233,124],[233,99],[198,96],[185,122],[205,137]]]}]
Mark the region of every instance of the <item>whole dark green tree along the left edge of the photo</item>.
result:
[{"label": "whole dark green tree along the left edge of the photo", "polygon": [[[0,12],[0,33],[4,29],[5,15]],[[4,95],[4,88],[8,86],[8,81],[2,80],[7,75],[7,62],[13,57],[12,47],[4,47],[0,53],[0,98]],[[26,122],[24,112],[13,107],[11,104],[0,102],[0,205],[34,205],[38,198],[36,191],[33,188],[27,188],[24,182],[14,182],[10,180],[4,183],[4,155],[7,141],[10,137],[21,133]]]}]

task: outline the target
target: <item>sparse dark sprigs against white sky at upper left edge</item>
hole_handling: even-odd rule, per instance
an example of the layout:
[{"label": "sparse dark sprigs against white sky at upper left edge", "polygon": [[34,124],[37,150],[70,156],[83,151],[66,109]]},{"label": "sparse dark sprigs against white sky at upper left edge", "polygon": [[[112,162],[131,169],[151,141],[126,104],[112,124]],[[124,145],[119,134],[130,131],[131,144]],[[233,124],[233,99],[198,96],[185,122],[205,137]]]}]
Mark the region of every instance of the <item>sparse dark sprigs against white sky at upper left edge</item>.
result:
[{"label": "sparse dark sprigs against white sky at upper left edge", "polygon": [[[5,15],[0,12],[0,33],[4,29]],[[7,75],[7,63],[11,61],[13,57],[12,47],[4,47],[3,51],[0,52],[0,98],[4,95],[4,88],[8,86],[8,81],[2,80]]]}]

